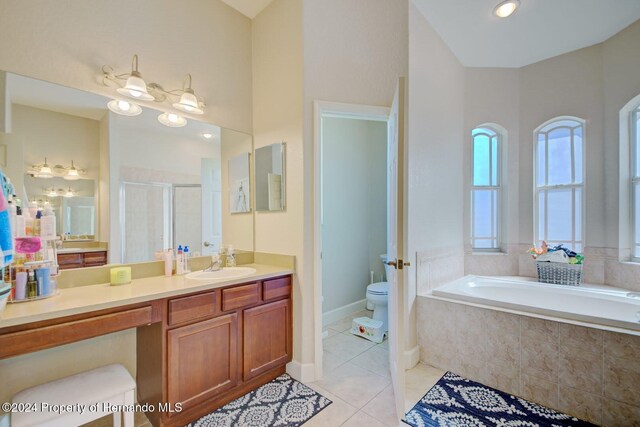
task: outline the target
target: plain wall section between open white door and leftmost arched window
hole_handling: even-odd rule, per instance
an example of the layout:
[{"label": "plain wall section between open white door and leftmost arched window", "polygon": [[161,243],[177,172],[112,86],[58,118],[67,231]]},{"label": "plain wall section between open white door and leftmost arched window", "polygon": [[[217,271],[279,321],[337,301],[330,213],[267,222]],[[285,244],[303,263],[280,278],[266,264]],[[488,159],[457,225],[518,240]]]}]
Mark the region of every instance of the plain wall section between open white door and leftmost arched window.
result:
[{"label": "plain wall section between open white door and leftmost arched window", "polygon": [[419,272],[428,286],[463,274],[463,91],[464,68],[411,4],[407,348],[416,345]]}]

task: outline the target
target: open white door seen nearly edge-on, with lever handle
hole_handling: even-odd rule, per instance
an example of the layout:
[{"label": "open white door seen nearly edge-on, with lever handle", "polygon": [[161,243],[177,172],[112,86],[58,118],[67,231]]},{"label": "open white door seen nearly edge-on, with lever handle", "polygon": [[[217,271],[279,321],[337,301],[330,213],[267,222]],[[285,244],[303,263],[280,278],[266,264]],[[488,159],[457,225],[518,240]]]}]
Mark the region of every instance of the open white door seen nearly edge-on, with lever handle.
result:
[{"label": "open white door seen nearly edge-on, with lever handle", "polygon": [[389,362],[398,418],[404,415],[404,78],[391,105],[387,152],[387,263],[389,281]]}]

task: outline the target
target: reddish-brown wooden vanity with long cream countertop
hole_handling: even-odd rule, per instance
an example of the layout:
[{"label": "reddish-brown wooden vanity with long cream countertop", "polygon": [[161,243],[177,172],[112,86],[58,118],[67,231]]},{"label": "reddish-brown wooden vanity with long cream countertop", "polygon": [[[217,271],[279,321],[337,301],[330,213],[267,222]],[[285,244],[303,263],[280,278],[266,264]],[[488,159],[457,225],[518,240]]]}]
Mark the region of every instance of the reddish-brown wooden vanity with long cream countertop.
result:
[{"label": "reddish-brown wooden vanity with long cream countertop", "polygon": [[[0,320],[0,359],[137,328],[138,402],[153,405],[154,426],[185,425],[291,361],[293,272],[252,266],[254,275],[213,284],[149,277],[14,305]],[[181,411],[160,412],[159,403]]]}]

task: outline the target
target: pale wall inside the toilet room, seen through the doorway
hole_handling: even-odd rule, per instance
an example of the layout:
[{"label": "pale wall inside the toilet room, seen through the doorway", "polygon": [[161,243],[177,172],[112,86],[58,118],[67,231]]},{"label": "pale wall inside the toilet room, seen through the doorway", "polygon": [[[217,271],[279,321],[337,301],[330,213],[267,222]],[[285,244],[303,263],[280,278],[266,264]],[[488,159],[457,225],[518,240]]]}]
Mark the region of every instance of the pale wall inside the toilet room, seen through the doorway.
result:
[{"label": "pale wall inside the toilet room, seen through the doorway", "polygon": [[387,124],[322,120],[322,312],[365,299],[387,250]]}]

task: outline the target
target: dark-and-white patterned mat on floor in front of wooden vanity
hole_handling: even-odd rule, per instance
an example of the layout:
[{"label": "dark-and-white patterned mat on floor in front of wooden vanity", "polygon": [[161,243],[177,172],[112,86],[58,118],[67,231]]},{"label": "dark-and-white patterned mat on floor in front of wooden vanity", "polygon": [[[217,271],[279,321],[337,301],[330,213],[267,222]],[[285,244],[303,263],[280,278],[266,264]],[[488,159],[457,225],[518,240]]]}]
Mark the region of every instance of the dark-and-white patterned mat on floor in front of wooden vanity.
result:
[{"label": "dark-and-white patterned mat on floor in front of wooden vanity", "polygon": [[187,427],[297,427],[331,403],[284,374]]}]

